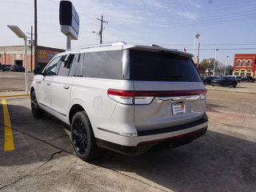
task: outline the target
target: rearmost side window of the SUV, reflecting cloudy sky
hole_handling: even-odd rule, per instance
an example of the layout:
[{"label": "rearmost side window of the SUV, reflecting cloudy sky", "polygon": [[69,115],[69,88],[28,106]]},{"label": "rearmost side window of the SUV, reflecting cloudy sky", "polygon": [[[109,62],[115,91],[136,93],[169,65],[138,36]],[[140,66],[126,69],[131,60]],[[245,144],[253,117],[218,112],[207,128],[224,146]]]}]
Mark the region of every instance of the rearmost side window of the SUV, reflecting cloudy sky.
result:
[{"label": "rearmost side window of the SUV, reflecting cloudy sky", "polygon": [[84,54],[83,77],[122,79],[122,50]]}]

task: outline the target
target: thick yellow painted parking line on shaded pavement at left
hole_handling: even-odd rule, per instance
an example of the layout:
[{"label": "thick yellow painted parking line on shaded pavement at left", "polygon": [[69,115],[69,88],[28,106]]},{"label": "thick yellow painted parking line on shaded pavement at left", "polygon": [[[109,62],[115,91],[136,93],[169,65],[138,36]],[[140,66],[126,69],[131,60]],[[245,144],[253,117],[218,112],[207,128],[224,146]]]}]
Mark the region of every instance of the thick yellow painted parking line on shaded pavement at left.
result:
[{"label": "thick yellow painted parking line on shaded pavement at left", "polygon": [[5,130],[5,146],[4,150],[14,150],[14,135],[11,130],[10,115],[5,99],[2,99],[3,125]]}]

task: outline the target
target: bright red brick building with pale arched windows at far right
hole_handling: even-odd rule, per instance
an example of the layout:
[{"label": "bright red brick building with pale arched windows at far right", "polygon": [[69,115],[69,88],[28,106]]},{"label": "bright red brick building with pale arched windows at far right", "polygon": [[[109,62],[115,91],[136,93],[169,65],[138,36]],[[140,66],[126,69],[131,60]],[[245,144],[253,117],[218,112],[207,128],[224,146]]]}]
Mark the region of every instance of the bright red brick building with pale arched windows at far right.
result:
[{"label": "bright red brick building with pale arched windows at far right", "polygon": [[256,78],[256,54],[234,54],[233,75]]}]

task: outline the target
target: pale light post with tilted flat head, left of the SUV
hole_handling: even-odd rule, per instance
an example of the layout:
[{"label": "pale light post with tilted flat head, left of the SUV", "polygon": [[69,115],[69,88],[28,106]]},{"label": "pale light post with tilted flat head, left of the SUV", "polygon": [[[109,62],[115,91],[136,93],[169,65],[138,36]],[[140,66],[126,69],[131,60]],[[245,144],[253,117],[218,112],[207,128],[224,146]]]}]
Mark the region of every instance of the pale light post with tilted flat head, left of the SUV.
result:
[{"label": "pale light post with tilted flat head, left of the SUV", "polygon": [[25,52],[25,85],[26,85],[26,94],[28,94],[28,84],[27,84],[27,51],[26,51],[26,34],[23,33],[23,31],[21,29],[18,28],[18,26],[10,26],[7,25],[10,30],[12,30],[14,32],[14,34],[16,34],[18,36],[18,38],[23,38],[25,45],[24,45],[24,52]]}]

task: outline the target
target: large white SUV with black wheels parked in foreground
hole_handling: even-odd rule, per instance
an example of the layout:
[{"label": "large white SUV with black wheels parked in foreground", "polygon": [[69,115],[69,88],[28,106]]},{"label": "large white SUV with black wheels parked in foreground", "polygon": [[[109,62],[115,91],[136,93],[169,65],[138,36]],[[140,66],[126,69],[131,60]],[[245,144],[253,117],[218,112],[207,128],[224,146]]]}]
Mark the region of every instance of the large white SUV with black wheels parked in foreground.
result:
[{"label": "large white SUV with black wheels parked in foreground", "polygon": [[142,154],[159,143],[183,145],[208,126],[206,89],[192,56],[122,42],[67,50],[34,70],[32,114],[43,110],[70,126],[85,161],[101,148]]}]

